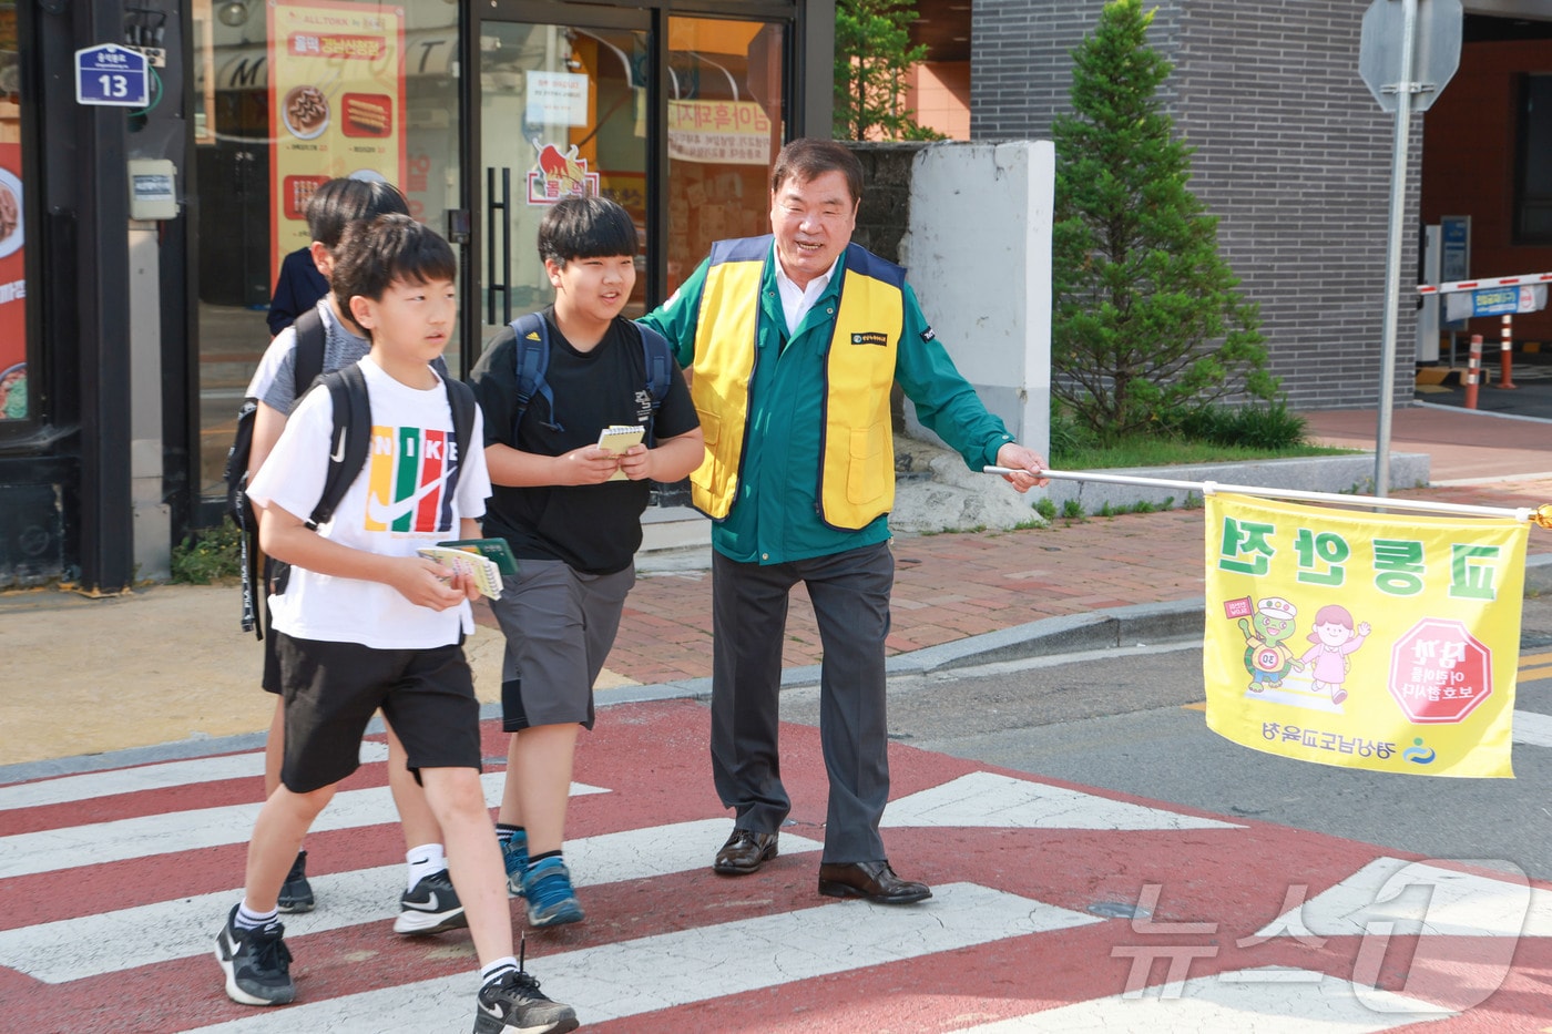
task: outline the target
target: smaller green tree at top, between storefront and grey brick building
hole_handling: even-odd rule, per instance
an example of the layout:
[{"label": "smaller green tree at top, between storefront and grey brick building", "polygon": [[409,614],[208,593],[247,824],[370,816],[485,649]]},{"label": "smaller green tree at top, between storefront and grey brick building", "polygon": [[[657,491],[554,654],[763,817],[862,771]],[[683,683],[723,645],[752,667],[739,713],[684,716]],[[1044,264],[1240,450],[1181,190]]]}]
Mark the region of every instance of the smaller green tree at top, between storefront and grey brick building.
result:
[{"label": "smaller green tree at top, between storefront and grey brick building", "polygon": [[906,75],[927,57],[911,47],[916,0],[837,0],[835,138],[941,140],[905,106]]}]

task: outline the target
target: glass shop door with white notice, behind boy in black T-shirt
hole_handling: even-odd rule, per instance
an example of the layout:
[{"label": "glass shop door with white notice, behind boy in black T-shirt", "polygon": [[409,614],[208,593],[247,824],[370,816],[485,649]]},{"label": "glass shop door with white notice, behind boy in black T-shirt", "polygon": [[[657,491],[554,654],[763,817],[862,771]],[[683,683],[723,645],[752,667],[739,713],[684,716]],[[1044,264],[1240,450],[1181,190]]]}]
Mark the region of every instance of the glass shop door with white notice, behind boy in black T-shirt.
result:
[{"label": "glass shop door with white notice, behind boy in black T-shirt", "polygon": [[[509,5],[521,16],[525,5]],[[531,6],[531,5],[529,5]],[[531,6],[554,16],[576,5]],[[481,345],[554,300],[535,252],[545,211],[570,194],[613,197],[641,234],[627,317],[646,312],[647,12],[579,11],[565,23],[494,20],[478,40],[473,227]]]}]

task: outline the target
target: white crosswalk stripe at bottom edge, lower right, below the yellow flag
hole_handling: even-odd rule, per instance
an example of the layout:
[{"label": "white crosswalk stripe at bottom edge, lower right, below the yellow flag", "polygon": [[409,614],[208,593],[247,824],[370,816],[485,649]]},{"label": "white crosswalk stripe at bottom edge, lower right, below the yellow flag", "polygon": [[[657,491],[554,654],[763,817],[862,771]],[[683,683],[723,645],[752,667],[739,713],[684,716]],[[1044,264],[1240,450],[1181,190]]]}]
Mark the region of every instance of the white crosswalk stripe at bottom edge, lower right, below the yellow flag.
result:
[{"label": "white crosswalk stripe at bottom edge, lower right, below the yellow flag", "polygon": [[982,1023],[959,1034],[1370,1034],[1456,1015],[1436,1005],[1302,969],[1245,969]]}]

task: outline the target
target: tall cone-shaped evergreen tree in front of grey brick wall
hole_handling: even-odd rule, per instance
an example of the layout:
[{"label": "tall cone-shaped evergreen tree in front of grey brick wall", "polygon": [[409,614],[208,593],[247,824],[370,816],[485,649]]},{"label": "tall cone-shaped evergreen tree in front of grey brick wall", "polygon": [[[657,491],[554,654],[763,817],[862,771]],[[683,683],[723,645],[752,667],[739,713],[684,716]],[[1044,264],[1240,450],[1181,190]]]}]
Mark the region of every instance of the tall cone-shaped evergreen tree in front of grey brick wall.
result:
[{"label": "tall cone-shaped evergreen tree in front of grey brick wall", "polygon": [[1153,12],[1110,0],[1072,51],[1057,147],[1052,391],[1102,441],[1172,427],[1231,394],[1273,399],[1259,307],[1234,290],[1218,220],[1190,193],[1148,48]]}]

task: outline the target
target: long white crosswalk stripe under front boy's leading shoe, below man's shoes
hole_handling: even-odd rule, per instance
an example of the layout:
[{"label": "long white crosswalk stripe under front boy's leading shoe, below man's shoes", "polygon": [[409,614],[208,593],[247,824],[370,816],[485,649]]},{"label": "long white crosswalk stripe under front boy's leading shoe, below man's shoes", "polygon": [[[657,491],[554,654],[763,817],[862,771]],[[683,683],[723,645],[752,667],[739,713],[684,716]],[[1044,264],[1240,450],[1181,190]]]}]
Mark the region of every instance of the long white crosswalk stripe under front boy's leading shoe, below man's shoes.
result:
[{"label": "long white crosswalk stripe under front boy's leading shoe, below man's shoes", "polygon": [[[933,894],[920,905],[835,902],[546,955],[534,975],[546,995],[573,1005],[588,1025],[1102,922],[975,883],[948,883]],[[365,1023],[377,1031],[449,1029],[473,1012],[473,995],[475,977],[461,973],[256,1012],[197,1034],[346,1031]]]}]

